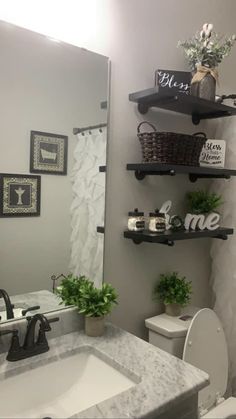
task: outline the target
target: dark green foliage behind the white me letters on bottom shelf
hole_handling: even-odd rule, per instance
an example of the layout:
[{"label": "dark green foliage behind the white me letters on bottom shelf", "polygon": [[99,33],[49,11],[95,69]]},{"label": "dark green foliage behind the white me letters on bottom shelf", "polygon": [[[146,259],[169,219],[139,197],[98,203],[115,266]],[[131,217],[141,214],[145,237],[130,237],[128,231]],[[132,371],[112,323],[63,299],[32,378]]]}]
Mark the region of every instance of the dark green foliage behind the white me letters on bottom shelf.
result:
[{"label": "dark green foliage behind the white me letters on bottom shelf", "polygon": [[198,190],[188,192],[186,197],[188,210],[192,214],[207,214],[223,204],[221,196],[214,192]]}]

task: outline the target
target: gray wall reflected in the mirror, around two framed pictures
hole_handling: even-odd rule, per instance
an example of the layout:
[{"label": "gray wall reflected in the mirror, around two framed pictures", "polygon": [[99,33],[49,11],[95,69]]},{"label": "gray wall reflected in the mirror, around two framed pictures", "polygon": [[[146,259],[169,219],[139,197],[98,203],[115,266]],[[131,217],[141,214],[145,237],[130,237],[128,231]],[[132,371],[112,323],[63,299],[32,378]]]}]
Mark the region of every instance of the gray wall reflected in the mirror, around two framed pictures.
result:
[{"label": "gray wall reflected in the mirror, around two framed pictures", "polygon": [[30,131],[67,135],[67,176],[41,175],[40,217],[0,218],[0,288],[51,289],[70,260],[73,127],[106,121],[105,57],[0,25],[0,171],[29,173]]}]

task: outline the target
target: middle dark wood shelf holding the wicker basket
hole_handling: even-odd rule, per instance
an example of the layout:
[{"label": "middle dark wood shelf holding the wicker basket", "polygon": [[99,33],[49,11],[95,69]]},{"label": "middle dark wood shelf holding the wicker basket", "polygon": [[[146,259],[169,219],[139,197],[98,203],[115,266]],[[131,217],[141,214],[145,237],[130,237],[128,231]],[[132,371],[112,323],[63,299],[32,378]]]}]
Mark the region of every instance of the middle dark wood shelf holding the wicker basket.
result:
[{"label": "middle dark wood shelf holding the wicker basket", "polygon": [[135,172],[135,177],[142,180],[147,175],[155,176],[175,176],[188,175],[191,182],[204,178],[230,179],[236,176],[236,170],[233,169],[215,169],[208,167],[180,166],[161,163],[133,163],[127,164],[127,170]]}]

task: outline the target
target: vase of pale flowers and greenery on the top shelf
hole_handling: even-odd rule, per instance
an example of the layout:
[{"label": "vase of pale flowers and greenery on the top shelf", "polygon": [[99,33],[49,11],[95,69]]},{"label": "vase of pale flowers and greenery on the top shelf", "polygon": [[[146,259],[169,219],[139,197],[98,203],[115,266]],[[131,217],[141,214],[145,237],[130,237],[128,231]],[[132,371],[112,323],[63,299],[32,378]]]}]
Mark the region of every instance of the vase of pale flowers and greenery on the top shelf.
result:
[{"label": "vase of pale flowers and greenery on the top shelf", "polygon": [[218,65],[227,57],[234,45],[236,36],[219,36],[213,31],[211,23],[205,23],[188,41],[179,42],[193,72],[191,94],[215,101]]}]

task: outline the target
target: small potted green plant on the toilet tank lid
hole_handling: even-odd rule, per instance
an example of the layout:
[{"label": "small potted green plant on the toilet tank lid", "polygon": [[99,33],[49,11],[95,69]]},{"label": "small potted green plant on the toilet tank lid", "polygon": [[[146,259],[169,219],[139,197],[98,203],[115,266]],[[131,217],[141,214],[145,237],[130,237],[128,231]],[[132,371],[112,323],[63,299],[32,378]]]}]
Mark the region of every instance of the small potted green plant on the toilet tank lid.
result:
[{"label": "small potted green plant on the toilet tank lid", "polygon": [[187,305],[192,293],[191,282],[179,276],[178,272],[160,275],[160,281],[155,285],[153,297],[165,305],[165,312],[169,316],[179,316],[181,307]]}]

